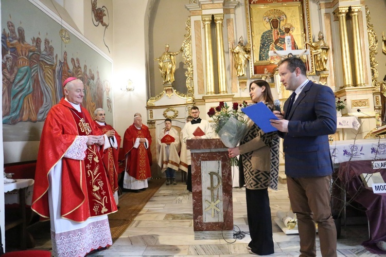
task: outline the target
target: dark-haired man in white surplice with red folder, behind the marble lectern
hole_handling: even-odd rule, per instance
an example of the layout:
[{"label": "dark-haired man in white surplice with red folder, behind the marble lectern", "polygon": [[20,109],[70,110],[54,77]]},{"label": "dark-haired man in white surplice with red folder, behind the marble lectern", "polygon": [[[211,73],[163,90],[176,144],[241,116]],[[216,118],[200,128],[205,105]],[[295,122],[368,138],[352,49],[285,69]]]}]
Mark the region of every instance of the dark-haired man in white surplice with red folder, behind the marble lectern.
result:
[{"label": "dark-haired man in white surplice with red folder, behind the marble lectern", "polygon": [[[197,106],[191,107],[190,112],[193,120],[186,123],[182,129],[183,141],[188,139],[210,139],[213,138],[213,128],[207,120],[199,118],[200,111]],[[185,160],[181,157],[182,160]],[[186,188],[191,192],[191,159],[190,150],[186,150],[186,164],[188,165],[188,177],[186,179]]]}]

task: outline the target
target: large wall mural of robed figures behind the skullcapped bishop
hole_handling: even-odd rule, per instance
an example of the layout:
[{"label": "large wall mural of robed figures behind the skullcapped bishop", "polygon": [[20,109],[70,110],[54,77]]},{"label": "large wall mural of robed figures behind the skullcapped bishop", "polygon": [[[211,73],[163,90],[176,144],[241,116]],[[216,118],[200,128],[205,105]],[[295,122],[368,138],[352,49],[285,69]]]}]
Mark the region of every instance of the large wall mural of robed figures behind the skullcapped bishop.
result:
[{"label": "large wall mural of robed figures behind the skullcapped bishop", "polygon": [[111,60],[33,2],[1,4],[4,141],[39,141],[68,77],[83,81],[83,107],[92,116],[96,108],[104,108],[106,122],[112,124]]}]

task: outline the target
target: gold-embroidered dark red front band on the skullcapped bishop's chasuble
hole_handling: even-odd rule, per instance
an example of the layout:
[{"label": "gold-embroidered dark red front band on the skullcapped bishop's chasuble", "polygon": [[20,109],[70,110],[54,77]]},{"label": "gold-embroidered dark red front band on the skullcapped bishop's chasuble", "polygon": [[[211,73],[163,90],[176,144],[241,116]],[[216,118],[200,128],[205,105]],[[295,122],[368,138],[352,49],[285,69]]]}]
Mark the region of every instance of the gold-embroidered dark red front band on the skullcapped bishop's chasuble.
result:
[{"label": "gold-embroidered dark red front band on the skullcapped bishop's chasuble", "polygon": [[[78,125],[79,136],[87,136],[91,134],[91,126],[84,114],[81,113],[81,118],[72,109],[72,114],[76,124]],[[87,197],[89,199],[90,216],[100,216],[104,213],[112,212],[110,201],[110,189],[101,162],[102,158],[95,144],[89,145],[85,152],[84,159],[85,167],[85,182],[87,188]]]}]

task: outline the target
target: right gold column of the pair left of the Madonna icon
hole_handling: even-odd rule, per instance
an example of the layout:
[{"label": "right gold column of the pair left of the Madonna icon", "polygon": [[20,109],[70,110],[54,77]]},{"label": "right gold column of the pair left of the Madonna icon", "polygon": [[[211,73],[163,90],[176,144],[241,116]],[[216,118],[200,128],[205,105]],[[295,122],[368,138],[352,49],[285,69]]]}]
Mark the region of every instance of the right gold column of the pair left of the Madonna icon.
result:
[{"label": "right gold column of the pair left of the Madonna icon", "polygon": [[224,21],[224,14],[214,14],[216,23],[216,45],[217,45],[217,63],[218,63],[218,81],[219,94],[227,94],[226,90],[226,68],[225,68],[225,54],[224,54],[224,40],[222,38],[222,28]]}]

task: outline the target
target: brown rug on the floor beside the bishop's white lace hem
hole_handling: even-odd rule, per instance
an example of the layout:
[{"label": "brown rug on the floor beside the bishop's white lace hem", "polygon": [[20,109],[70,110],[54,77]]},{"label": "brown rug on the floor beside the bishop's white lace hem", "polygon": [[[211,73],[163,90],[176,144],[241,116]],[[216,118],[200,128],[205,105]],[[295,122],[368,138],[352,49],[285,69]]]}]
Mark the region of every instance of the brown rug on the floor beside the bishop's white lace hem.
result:
[{"label": "brown rug on the floor beside the bishop's white lace hem", "polygon": [[135,216],[144,208],[148,200],[157,192],[163,183],[165,183],[165,178],[151,179],[148,183],[149,187],[144,191],[140,190],[138,193],[124,192],[124,195],[119,197],[118,211],[109,214],[113,243],[125,232]]}]

